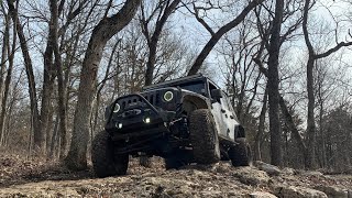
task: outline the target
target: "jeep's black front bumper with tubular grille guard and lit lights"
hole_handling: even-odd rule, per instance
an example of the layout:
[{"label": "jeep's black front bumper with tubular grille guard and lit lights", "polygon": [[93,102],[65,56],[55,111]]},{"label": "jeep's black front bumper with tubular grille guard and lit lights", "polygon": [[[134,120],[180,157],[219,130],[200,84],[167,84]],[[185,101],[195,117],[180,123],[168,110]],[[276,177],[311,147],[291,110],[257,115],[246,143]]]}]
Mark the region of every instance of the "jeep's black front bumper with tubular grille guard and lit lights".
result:
[{"label": "jeep's black front bumper with tubular grille guard and lit lights", "polygon": [[133,94],[117,99],[119,112],[110,112],[106,131],[113,140],[135,139],[169,132],[168,123],[175,118],[175,111],[165,111],[154,107],[142,95]]}]

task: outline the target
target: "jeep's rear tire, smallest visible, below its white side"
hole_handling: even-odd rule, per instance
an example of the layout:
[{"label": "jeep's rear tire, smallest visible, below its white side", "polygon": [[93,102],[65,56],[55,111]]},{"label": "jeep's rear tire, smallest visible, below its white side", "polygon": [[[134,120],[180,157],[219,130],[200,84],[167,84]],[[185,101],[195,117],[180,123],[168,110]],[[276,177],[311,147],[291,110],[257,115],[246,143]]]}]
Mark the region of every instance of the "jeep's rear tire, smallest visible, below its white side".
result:
[{"label": "jeep's rear tire, smallest visible, below its white side", "polygon": [[244,138],[235,140],[237,144],[232,146],[228,154],[233,166],[249,166],[252,163],[251,146]]}]

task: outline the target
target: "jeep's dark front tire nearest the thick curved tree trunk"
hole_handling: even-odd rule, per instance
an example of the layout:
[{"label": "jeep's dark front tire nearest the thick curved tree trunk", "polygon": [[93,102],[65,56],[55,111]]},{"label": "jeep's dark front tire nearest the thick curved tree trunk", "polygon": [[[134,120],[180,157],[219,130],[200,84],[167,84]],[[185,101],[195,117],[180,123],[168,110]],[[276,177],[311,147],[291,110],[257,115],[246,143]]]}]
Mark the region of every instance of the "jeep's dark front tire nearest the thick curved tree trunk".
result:
[{"label": "jeep's dark front tire nearest the thick curved tree trunk", "polygon": [[91,162],[98,177],[125,175],[129,155],[114,155],[113,150],[113,144],[106,131],[95,136],[91,146]]}]

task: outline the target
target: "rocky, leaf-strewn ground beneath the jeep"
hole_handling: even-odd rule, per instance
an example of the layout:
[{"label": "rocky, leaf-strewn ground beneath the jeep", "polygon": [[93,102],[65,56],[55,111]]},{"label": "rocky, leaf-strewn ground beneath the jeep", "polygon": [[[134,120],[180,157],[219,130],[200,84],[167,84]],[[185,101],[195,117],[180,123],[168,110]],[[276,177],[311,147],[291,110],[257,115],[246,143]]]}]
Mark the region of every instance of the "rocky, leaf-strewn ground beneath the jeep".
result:
[{"label": "rocky, leaf-strewn ground beneath the jeep", "polygon": [[255,163],[251,167],[190,165],[165,170],[133,160],[127,176],[95,178],[59,165],[0,155],[0,197],[337,197],[352,198],[352,175],[326,175]]}]

